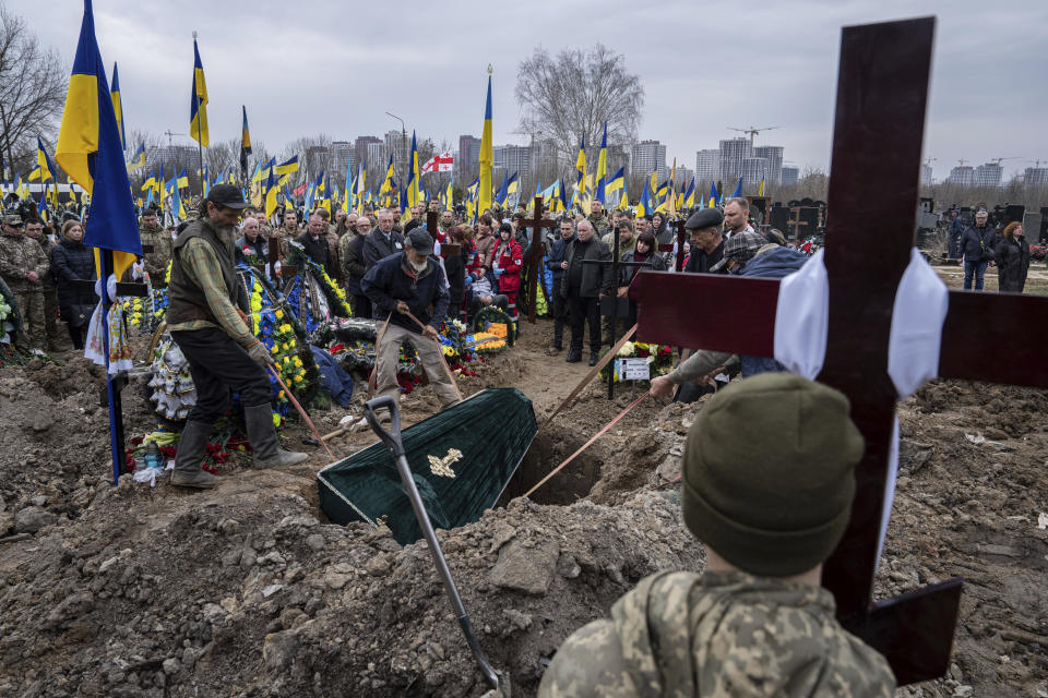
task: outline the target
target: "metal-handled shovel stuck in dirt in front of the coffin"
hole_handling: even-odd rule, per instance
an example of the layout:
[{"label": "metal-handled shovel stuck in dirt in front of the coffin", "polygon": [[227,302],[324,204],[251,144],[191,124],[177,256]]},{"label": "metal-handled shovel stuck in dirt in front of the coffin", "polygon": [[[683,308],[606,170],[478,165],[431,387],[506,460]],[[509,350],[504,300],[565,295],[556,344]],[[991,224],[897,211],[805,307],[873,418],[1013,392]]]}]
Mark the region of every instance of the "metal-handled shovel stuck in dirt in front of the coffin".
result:
[{"label": "metal-handled shovel stuck in dirt in front of the coffin", "polygon": [[[390,410],[390,431],[382,428],[379,423],[378,416],[374,413],[376,410],[382,408]],[[462,633],[466,636],[469,651],[473,652],[473,657],[480,666],[480,673],[484,674],[484,677],[491,685],[491,688],[495,689],[496,695],[508,698],[510,695],[510,684],[508,681],[504,684],[500,681],[498,673],[491,667],[488,658],[485,657],[484,650],[480,649],[477,636],[474,634],[473,626],[469,624],[469,616],[466,615],[466,607],[462,604],[462,597],[458,595],[458,589],[455,587],[455,580],[451,578],[451,570],[448,568],[444,553],[441,551],[440,543],[437,541],[433,525],[429,521],[429,515],[426,513],[422,498],[419,496],[418,489],[415,486],[415,480],[412,478],[412,469],[407,465],[407,456],[404,453],[404,442],[401,441],[401,411],[396,405],[396,398],[384,395],[368,400],[364,405],[364,416],[368,420],[368,424],[371,425],[371,429],[378,434],[379,438],[385,443],[390,453],[393,455],[393,461],[396,464],[401,482],[404,483],[407,497],[412,501],[412,508],[415,509],[415,518],[418,520],[418,526],[422,529],[422,533],[426,537],[429,552],[433,556],[433,564],[444,582],[444,590],[448,592],[451,605],[458,616],[458,625],[462,626]]]}]

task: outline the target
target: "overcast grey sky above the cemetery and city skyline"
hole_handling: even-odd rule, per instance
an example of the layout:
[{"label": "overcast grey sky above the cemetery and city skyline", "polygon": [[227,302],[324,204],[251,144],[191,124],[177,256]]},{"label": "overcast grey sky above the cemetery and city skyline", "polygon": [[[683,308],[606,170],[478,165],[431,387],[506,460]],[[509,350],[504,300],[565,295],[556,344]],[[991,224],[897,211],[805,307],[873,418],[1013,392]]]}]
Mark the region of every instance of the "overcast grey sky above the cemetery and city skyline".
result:
[{"label": "overcast grey sky above the cemetery and city skyline", "polygon": [[[7,0],[68,63],[80,0]],[[509,3],[329,0],[95,0],[103,60],[120,67],[129,129],[188,132],[192,31],[211,99],[211,137],[238,137],[240,105],[270,151],[297,136],[381,135],[400,122],[438,144],[480,135],[495,67],[495,142],[514,134],[516,68],[537,45],[597,40],[626,55],[646,93],[641,139],[694,167],[695,151],[778,127],[758,145],[826,169],[841,27],[938,15],[925,158],[940,179],[965,158],[1048,161],[1048,0]],[[510,9],[512,8],[512,9]],[[64,10],[64,11],[62,11]],[[189,143],[188,137],[180,139]],[[1005,177],[1033,161],[1004,161]],[[1043,163],[1044,165],[1044,163]]]}]

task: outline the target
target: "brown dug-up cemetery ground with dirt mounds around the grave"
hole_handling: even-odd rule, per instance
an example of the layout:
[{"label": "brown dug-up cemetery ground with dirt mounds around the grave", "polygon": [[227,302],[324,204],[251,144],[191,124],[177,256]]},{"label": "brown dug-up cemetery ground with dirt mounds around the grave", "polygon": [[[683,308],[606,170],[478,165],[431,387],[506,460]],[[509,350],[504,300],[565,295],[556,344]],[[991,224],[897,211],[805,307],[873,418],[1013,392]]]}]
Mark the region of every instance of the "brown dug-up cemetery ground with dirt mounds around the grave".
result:
[{"label": "brown dug-up cemetery ground with dirt mounds around the grave", "polygon": [[[960,286],[960,269],[937,268]],[[996,288],[992,268],[986,278]],[[1048,292],[1043,265],[1027,290]],[[550,334],[549,321],[525,324],[463,393],[516,387],[541,423],[587,370],[547,357]],[[986,360],[1008,361],[1008,348]],[[72,354],[0,370],[0,696],[485,693],[425,543],[327,521],[315,479],[327,459],[301,445],[297,421],[285,435],[312,456],[299,467],[252,470],[235,455],[213,491],[166,477],[114,488],[100,381]],[[129,437],[155,428],[141,387],[124,390]],[[629,388],[608,401],[605,385],[587,387],[539,431],[511,488],[537,481],[630,400]],[[702,569],[674,480],[703,405],[642,402],[531,501],[439,533],[514,695],[534,695],[563,638],[643,576]],[[402,414],[414,423],[437,408],[422,388]],[[344,413],[313,418],[326,433]],[[939,381],[901,405],[900,421],[877,593],[965,578],[948,676],[900,695],[1048,695],[1048,393]],[[373,441],[356,432],[332,448],[344,457]]]}]

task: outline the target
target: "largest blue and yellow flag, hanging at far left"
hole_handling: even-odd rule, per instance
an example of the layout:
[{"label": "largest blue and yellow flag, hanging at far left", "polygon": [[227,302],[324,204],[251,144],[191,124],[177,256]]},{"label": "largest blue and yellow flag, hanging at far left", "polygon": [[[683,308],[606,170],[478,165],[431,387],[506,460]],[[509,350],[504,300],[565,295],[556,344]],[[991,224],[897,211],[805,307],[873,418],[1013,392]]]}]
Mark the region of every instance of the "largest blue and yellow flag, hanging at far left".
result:
[{"label": "largest blue and yellow flag, hanging at far left", "polygon": [[84,0],[84,21],[55,159],[91,194],[92,225],[84,234],[84,244],[112,250],[114,273],[120,278],[135,255],[142,254],[142,241],[134,218],[134,202],[128,193],[131,183],[117,117],[95,39],[91,0]]}]

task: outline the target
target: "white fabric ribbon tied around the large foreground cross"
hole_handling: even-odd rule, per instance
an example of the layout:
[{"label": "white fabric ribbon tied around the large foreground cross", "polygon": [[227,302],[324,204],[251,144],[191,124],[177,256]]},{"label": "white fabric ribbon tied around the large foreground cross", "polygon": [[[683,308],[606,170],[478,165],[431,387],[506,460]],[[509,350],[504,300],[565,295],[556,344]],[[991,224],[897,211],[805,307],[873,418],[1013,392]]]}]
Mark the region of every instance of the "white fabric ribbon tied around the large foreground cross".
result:
[{"label": "white fabric ribbon tied around the large foreground cross", "polygon": [[[900,279],[892,309],[888,342],[888,374],[898,399],[904,400],[939,375],[942,325],[950,293],[934,269],[916,248]],[[830,322],[830,282],[823,251],[819,250],[799,270],[783,278],[775,312],[775,360],[811,381],[826,358]],[[898,417],[892,425],[889,470],[884,482],[884,508],[877,544],[880,562],[898,477]]]}]

